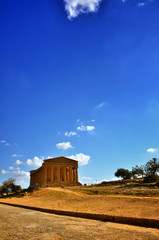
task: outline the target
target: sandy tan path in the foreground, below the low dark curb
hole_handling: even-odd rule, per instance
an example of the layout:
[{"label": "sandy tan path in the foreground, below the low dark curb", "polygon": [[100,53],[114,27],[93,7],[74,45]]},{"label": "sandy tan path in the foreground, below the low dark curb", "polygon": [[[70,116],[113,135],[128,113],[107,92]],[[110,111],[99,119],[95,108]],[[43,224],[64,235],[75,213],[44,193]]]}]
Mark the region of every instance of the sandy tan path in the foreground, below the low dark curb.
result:
[{"label": "sandy tan path in the foreground, below the low dark curb", "polygon": [[158,240],[159,230],[36,212],[0,204],[1,240]]}]

